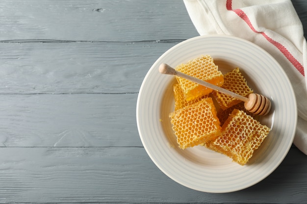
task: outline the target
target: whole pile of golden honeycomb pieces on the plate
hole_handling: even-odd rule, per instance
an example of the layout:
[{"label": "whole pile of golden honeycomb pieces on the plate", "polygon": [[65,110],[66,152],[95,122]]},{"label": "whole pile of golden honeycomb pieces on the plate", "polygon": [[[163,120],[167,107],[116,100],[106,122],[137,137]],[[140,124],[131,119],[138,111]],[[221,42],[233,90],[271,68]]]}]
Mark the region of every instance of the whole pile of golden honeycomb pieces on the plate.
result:
[{"label": "whole pile of golden honeycomb pieces on the plate", "polygon": [[[245,97],[253,93],[239,68],[223,75],[209,55],[181,64],[176,69]],[[268,136],[270,128],[253,118],[254,115],[246,111],[244,102],[176,78],[178,84],[173,87],[175,111],[169,116],[179,147],[205,146],[245,165]],[[214,104],[212,98],[217,103]]]}]

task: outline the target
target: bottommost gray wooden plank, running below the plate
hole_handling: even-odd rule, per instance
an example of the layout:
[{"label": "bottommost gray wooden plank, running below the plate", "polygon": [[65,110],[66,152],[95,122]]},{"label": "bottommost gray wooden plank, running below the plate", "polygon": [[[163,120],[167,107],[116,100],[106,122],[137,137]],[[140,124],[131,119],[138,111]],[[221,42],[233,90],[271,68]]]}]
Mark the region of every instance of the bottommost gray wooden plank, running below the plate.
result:
[{"label": "bottommost gray wooden plank, running below the plate", "polygon": [[306,203],[307,158],[291,149],[268,178],[213,194],[165,176],[143,148],[0,148],[0,203]]}]

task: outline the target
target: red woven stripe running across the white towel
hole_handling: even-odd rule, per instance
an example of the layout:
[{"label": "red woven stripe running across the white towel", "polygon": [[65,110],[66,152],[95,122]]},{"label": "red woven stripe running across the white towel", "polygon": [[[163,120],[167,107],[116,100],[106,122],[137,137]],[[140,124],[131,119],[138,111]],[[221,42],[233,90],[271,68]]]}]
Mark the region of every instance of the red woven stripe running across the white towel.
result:
[{"label": "red woven stripe running across the white towel", "polygon": [[227,0],[226,1],[226,8],[229,11],[233,11],[235,12],[241,19],[243,19],[243,21],[245,21],[245,23],[248,24],[248,26],[255,32],[255,33],[259,33],[261,34],[268,42],[270,42],[272,45],[276,46],[281,53],[292,63],[292,65],[303,75],[305,76],[305,72],[304,72],[304,67],[301,65],[301,63],[299,63],[299,61],[297,61],[297,59],[295,59],[295,57],[293,57],[293,55],[283,46],[281,45],[279,42],[273,40],[272,38],[270,38],[269,36],[267,36],[264,32],[259,32],[255,29],[255,27],[253,26],[253,24],[251,23],[250,19],[248,18],[248,16],[244,13],[244,11],[242,11],[241,9],[234,9],[232,10],[232,0]]}]

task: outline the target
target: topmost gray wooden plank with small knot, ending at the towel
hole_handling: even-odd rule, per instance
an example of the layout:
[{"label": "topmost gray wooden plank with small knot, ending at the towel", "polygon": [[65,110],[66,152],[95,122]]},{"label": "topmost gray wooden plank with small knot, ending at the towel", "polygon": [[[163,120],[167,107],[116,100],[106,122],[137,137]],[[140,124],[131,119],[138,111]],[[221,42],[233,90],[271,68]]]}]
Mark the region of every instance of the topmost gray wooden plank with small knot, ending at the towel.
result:
[{"label": "topmost gray wooden plank with small knot, ending at the towel", "polygon": [[2,41],[130,42],[198,35],[178,0],[1,0],[0,8]]}]

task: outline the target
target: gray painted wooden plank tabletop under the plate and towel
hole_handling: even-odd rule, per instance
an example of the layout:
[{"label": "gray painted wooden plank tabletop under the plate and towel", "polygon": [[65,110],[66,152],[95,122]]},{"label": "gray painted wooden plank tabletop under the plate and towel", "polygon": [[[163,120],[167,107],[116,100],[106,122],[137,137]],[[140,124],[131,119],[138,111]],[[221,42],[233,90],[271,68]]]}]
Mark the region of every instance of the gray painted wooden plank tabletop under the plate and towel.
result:
[{"label": "gray painted wooden plank tabletop under the plate and towel", "polygon": [[[293,3],[307,33],[307,1]],[[295,146],[268,178],[227,194],[153,164],[138,91],[162,53],[195,36],[181,0],[1,0],[0,203],[307,203]]]}]

